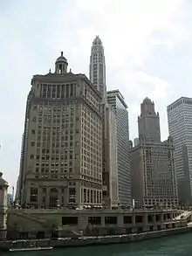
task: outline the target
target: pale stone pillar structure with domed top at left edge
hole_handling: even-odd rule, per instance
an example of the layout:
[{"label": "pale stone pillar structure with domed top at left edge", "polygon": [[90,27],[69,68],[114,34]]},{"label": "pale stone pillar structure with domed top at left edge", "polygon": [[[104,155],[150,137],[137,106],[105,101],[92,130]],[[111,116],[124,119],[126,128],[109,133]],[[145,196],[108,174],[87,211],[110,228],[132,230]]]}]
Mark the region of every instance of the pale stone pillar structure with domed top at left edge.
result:
[{"label": "pale stone pillar structure with domed top at left edge", "polygon": [[8,183],[3,179],[0,172],[0,240],[6,238],[7,232],[7,190]]}]

